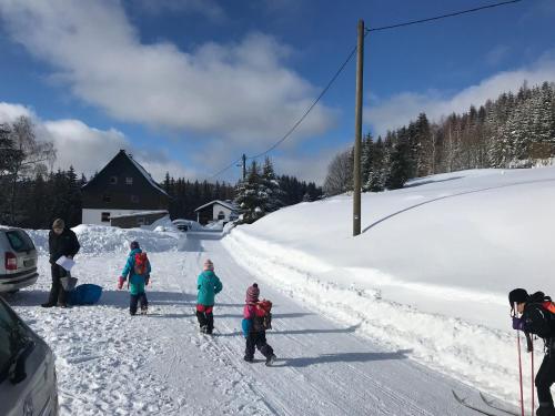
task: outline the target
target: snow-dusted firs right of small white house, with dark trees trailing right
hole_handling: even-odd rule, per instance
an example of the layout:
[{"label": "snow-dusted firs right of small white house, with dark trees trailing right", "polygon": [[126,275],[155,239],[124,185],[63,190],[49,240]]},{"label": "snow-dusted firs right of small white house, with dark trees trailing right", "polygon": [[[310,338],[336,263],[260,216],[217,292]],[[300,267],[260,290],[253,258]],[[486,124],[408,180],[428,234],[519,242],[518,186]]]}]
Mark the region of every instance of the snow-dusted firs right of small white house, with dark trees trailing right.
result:
[{"label": "snow-dusted firs right of small white house, with dark trees trailing right", "polygon": [[251,224],[265,214],[299,202],[315,201],[322,189],[296,177],[278,176],[270,158],[262,166],[252,161],[245,179],[235,186],[235,205],[242,215],[240,222]]}]

